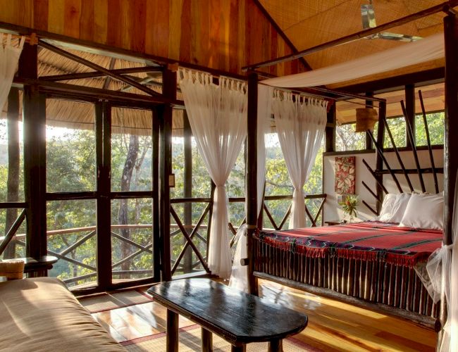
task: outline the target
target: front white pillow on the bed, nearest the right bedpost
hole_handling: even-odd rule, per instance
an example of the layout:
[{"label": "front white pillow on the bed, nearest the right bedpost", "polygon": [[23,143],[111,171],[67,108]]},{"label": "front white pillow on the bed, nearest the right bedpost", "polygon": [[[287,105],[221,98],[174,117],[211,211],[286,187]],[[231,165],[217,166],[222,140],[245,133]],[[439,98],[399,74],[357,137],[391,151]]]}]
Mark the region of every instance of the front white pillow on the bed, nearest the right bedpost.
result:
[{"label": "front white pillow on the bed, nearest the right bedpost", "polygon": [[412,194],[400,226],[442,230],[444,197],[438,194]]}]

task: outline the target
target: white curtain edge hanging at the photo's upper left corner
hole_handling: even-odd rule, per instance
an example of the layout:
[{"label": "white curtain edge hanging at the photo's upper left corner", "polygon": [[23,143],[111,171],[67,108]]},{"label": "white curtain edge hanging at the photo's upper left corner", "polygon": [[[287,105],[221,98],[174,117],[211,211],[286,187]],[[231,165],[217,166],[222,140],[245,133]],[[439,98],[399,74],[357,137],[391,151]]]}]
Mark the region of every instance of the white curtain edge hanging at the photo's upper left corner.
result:
[{"label": "white curtain edge hanging at the photo's upper left corner", "polygon": [[18,46],[11,44],[11,34],[0,34],[0,111],[13,83],[13,77],[18,69],[20,52],[23,51],[25,37],[22,37]]}]

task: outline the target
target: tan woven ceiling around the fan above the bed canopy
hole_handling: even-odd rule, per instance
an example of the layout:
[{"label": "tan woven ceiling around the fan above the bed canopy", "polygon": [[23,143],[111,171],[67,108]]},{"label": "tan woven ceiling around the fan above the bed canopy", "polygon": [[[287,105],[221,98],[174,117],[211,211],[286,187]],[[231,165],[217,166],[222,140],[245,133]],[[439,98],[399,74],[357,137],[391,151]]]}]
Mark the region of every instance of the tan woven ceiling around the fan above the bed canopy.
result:
[{"label": "tan woven ceiling around the fan above the bed canopy", "polygon": [[[347,34],[361,31],[362,4],[366,0],[260,0],[266,11],[278,23],[287,37],[298,50],[303,50],[338,39]],[[378,25],[416,13],[425,8],[442,3],[442,0],[373,0],[373,6]],[[442,32],[443,13],[416,20],[390,32],[409,34],[421,37]],[[305,56],[311,68],[322,68],[335,63],[350,61],[354,58],[390,49],[404,43],[386,39],[360,39],[349,44],[335,46],[318,53]],[[343,82],[330,87],[340,87],[347,84],[377,80],[383,77],[392,77],[402,73],[412,73],[430,68],[443,66],[443,61],[412,66],[402,70],[395,70],[383,75],[364,77],[353,82]]]}]

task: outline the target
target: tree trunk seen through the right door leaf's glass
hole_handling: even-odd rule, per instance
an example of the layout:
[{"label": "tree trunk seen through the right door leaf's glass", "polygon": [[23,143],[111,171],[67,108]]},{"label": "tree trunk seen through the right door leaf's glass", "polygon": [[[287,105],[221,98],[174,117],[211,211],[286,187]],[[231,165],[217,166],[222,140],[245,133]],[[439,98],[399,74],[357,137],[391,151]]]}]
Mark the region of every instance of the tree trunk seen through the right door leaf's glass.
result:
[{"label": "tree trunk seen through the right door leaf's glass", "polygon": [[[131,135],[128,147],[128,155],[125,158],[123,175],[121,177],[121,191],[130,191],[130,180],[132,180],[132,172],[135,168],[135,162],[138,156],[138,136]],[[118,224],[128,225],[128,199],[121,199],[118,212]],[[125,239],[130,239],[129,229],[120,229],[120,235]],[[127,258],[132,253],[130,244],[124,241],[121,244],[121,258]],[[121,264],[121,270],[129,270],[130,260]],[[128,278],[129,275],[121,275],[122,278]]]}]

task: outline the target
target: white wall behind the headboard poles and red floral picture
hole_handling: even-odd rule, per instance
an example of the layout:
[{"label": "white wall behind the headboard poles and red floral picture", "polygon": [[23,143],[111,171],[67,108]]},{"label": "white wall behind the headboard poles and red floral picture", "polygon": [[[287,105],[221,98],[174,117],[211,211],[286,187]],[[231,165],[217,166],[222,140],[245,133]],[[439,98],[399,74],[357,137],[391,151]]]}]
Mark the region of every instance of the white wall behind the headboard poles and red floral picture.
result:
[{"label": "white wall behind the headboard poles and red floral picture", "polygon": [[[427,150],[418,151],[419,161],[421,168],[431,168],[431,162],[429,159],[429,153]],[[400,152],[402,162],[407,169],[414,169],[415,160],[414,154],[411,151],[401,151]],[[359,204],[357,206],[358,220],[372,220],[375,215],[371,213],[362,201],[366,201],[374,210],[376,209],[376,200],[373,196],[366,190],[366,188],[361,183],[364,181],[375,193],[376,191],[376,181],[373,179],[369,170],[363,164],[363,159],[371,166],[372,169],[376,168],[376,153],[359,153],[359,154],[342,154],[339,153],[338,156],[355,156],[356,157],[356,194],[359,196]],[[434,163],[436,168],[442,168],[444,163],[444,151],[443,149],[433,150]],[[397,161],[396,154],[394,152],[386,152],[385,158],[387,159],[390,168],[400,169],[400,163]],[[385,168],[385,165],[384,165]],[[343,213],[338,205],[337,196],[334,191],[334,182],[335,182],[335,156],[323,156],[323,193],[326,193],[328,196],[324,204],[324,220],[338,220],[343,218]],[[404,174],[396,174],[397,180],[400,182],[402,190],[404,192],[409,192],[409,186],[407,180],[404,177]],[[416,191],[421,191],[420,179],[416,174],[409,175],[412,186]],[[434,179],[433,174],[423,174],[423,180],[425,182],[426,191],[430,193],[435,193],[434,189]],[[383,176],[383,184],[390,193],[399,193],[397,190],[395,182],[392,180],[391,175]],[[438,185],[439,191],[443,189],[443,175],[438,174]]]}]

